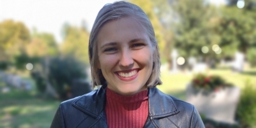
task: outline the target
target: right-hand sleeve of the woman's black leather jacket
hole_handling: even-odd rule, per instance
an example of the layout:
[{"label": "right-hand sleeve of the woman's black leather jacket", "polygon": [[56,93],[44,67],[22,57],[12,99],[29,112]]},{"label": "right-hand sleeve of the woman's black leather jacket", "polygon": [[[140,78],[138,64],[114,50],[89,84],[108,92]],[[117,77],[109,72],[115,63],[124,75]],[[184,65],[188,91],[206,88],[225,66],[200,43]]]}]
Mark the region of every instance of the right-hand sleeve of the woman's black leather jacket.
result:
[{"label": "right-hand sleeve of the woman's black leather jacket", "polygon": [[191,118],[191,128],[199,127],[199,128],[205,128],[204,123],[202,122],[201,116],[197,112],[196,108],[193,106],[193,115]]}]

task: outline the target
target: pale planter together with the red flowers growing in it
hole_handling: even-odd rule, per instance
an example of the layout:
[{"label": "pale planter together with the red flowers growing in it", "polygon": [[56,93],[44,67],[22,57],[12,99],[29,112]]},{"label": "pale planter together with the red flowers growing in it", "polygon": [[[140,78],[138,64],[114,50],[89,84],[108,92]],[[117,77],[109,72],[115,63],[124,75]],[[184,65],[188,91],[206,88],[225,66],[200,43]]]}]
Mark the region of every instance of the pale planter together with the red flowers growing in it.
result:
[{"label": "pale planter together with the red flowers growing in it", "polygon": [[235,123],[240,88],[227,84],[221,77],[197,74],[188,84],[186,95],[186,101],[193,104],[205,118]]}]

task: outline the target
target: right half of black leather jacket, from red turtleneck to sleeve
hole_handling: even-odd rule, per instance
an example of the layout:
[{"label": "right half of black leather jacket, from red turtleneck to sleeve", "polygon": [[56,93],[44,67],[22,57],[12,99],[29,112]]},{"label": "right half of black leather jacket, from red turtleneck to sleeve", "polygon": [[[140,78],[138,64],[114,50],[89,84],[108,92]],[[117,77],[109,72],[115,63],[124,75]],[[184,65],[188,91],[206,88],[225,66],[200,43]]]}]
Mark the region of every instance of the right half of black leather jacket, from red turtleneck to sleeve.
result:
[{"label": "right half of black leather jacket, from red turtleneck to sleeve", "polygon": [[204,127],[202,119],[194,105],[182,101],[174,96],[165,94],[157,88],[149,91],[149,110],[152,118],[160,127]]}]

